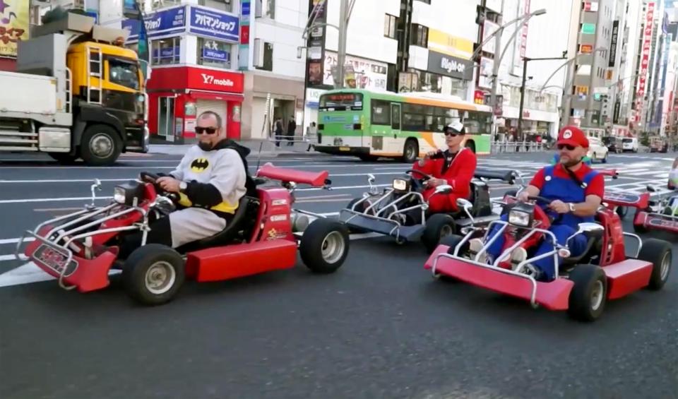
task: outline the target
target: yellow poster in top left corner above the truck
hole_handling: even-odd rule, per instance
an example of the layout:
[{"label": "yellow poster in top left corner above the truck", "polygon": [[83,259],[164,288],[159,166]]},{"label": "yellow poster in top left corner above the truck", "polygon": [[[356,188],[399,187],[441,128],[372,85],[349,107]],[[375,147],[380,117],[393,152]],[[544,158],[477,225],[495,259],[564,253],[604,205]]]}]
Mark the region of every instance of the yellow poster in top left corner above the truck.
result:
[{"label": "yellow poster in top left corner above the truck", "polygon": [[28,40],[28,3],[0,0],[0,56],[16,57],[17,43]]}]

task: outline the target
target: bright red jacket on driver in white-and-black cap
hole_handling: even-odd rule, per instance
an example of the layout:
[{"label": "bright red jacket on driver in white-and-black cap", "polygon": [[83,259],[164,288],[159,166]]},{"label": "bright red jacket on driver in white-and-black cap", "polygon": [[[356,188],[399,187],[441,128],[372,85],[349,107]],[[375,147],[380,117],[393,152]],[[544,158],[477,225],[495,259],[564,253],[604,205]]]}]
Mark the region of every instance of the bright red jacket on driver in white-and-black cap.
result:
[{"label": "bright red jacket on driver in white-and-black cap", "polygon": [[[471,179],[473,179],[477,166],[477,158],[472,150],[462,148],[459,150],[456,157],[454,157],[452,163],[445,169],[446,163],[448,162],[448,154],[448,150],[444,151],[443,157],[432,160],[429,159],[424,162],[424,166],[419,166],[419,161],[417,161],[412,169],[430,174],[436,179],[445,179],[447,183],[452,186],[451,195],[456,198],[468,199],[471,193]],[[432,190],[433,189],[427,189],[426,191]],[[430,196],[430,193],[428,196]],[[428,196],[424,195],[426,198],[428,198]]]}]

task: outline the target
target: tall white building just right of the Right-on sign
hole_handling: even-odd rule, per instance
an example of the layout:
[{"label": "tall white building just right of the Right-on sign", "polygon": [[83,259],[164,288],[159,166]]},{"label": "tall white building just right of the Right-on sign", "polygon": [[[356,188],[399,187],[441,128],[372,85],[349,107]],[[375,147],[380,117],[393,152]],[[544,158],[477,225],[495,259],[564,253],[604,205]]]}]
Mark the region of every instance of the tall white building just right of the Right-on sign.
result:
[{"label": "tall white building just right of the Right-on sign", "polygon": [[[480,73],[477,86],[488,99],[492,88],[492,71],[495,59],[501,58],[498,71],[497,95],[499,105],[495,107],[497,116],[497,140],[523,141],[555,137],[560,126],[559,106],[566,78],[563,65],[566,59],[563,53],[568,49],[568,24],[571,6],[566,1],[548,0],[486,0],[487,16],[494,21],[485,21],[482,37],[488,37],[500,26],[516,18],[526,16],[539,9],[546,13],[533,16],[527,23],[514,23],[506,26],[501,34],[499,49],[488,55],[483,47],[480,56]],[[494,56],[493,56],[494,55]],[[495,57],[496,56],[496,57]],[[523,99],[522,135],[518,129],[521,119],[521,87],[523,85],[523,59],[545,60],[528,61],[525,72],[525,96]]]}]

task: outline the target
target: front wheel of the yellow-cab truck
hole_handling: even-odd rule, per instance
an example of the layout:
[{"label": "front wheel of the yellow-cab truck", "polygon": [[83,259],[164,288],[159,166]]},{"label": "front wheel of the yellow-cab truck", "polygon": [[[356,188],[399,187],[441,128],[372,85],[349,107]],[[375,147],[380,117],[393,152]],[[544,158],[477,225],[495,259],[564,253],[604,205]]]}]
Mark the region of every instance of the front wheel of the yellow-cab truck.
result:
[{"label": "front wheel of the yellow-cab truck", "polygon": [[108,125],[92,125],[85,129],[81,141],[81,154],[87,165],[112,165],[122,152],[118,132]]}]

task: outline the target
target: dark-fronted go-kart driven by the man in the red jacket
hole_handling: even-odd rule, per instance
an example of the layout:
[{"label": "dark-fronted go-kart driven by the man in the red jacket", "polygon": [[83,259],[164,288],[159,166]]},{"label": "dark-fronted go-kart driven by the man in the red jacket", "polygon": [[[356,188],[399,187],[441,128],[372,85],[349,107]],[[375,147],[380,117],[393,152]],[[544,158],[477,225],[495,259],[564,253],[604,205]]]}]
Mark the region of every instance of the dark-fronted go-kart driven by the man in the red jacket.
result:
[{"label": "dark-fronted go-kart driven by the man in the red jacket", "polygon": [[[487,225],[499,218],[492,212],[487,181],[513,184],[519,178],[516,171],[477,170],[471,181],[469,200],[457,201],[458,212],[429,214],[429,205],[422,193],[426,181],[432,177],[417,170],[408,170],[405,174],[408,177],[394,179],[392,186],[382,193],[374,186],[374,175],[369,174],[369,193],[350,201],[340,211],[339,220],[353,232],[385,234],[394,237],[398,244],[421,241],[430,253],[441,237],[465,232],[471,226]],[[451,186],[437,186],[434,196],[450,191]]]}]

